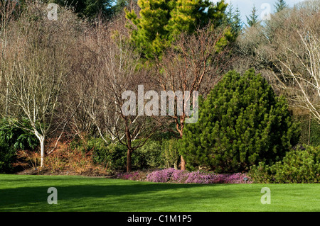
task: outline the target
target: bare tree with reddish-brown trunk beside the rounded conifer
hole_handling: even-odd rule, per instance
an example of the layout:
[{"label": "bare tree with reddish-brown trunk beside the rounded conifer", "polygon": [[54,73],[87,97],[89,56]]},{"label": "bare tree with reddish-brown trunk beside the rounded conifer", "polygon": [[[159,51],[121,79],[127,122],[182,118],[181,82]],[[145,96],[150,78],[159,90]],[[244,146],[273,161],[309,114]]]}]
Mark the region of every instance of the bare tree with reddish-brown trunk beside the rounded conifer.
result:
[{"label": "bare tree with reddish-brown trunk beside the rounded conifer", "polygon": [[[185,91],[206,96],[210,89],[223,77],[228,69],[230,58],[228,45],[221,47],[225,30],[212,29],[210,25],[199,29],[193,35],[182,34],[176,38],[176,42],[167,50],[161,60],[156,61],[156,79],[163,91],[181,91],[183,99]],[[192,101],[193,102],[193,101]],[[190,103],[192,103],[190,101]],[[188,118],[186,111],[181,115],[175,111],[169,115],[176,124],[178,136],[183,136],[183,126]],[[185,169],[185,161],[181,156],[181,169]]]}]

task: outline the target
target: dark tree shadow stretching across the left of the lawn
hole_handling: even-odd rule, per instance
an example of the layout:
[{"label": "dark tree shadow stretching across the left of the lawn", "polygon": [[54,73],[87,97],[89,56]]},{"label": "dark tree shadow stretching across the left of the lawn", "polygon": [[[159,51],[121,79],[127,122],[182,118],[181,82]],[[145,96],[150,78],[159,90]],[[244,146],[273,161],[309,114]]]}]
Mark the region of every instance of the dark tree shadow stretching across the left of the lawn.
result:
[{"label": "dark tree shadow stretching across the left of the lawn", "polygon": [[[197,192],[208,186],[204,184],[139,183],[136,181],[114,180],[115,184],[79,184],[55,186],[54,180],[46,181],[48,186],[26,186],[0,189],[0,211],[130,211],[125,206],[145,209],[172,203],[191,203],[204,198],[232,198],[234,193],[213,193],[210,189]],[[70,181],[68,181],[70,182]],[[98,181],[97,181],[98,182]],[[117,184],[118,183],[118,184]],[[48,205],[49,187],[58,190],[58,204]],[[119,207],[122,206],[122,207]],[[122,209],[122,210],[121,210]]]}]

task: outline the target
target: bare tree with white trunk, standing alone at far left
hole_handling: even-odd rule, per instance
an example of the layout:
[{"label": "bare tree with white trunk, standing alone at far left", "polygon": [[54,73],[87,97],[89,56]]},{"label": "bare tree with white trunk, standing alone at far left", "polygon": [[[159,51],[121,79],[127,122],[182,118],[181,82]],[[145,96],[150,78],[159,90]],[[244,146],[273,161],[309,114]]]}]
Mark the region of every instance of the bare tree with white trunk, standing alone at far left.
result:
[{"label": "bare tree with white trunk, standing alone at far left", "polygon": [[[30,130],[41,145],[41,167],[44,166],[46,139],[50,132],[65,126],[62,107],[71,69],[75,16],[61,12],[58,21],[49,21],[46,6],[28,4],[18,21],[10,23],[10,43],[6,55],[4,79],[9,84],[9,103],[18,112],[10,112],[16,126],[23,128],[19,118],[26,118]],[[63,111],[60,111],[63,113]]]}]

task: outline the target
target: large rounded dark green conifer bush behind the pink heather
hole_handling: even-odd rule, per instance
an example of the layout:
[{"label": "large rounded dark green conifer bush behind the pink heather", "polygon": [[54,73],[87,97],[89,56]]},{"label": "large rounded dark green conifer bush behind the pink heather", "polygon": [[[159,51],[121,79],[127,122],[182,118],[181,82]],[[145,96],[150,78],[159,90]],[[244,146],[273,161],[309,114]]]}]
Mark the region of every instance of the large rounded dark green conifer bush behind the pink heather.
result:
[{"label": "large rounded dark green conifer bush behind the pink heather", "polygon": [[186,124],[179,151],[189,169],[234,173],[281,160],[299,134],[287,101],[261,74],[231,71],[200,101],[198,122]]}]

